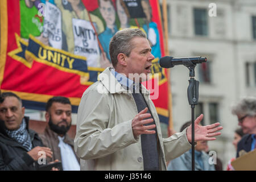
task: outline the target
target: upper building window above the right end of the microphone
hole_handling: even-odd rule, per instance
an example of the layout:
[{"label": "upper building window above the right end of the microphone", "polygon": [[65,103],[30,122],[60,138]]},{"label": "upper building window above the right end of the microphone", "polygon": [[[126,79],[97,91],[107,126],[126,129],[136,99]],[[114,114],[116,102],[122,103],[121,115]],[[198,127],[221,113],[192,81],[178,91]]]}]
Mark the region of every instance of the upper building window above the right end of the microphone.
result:
[{"label": "upper building window above the right end of the microphone", "polygon": [[194,26],[196,35],[208,35],[207,9],[194,9]]}]

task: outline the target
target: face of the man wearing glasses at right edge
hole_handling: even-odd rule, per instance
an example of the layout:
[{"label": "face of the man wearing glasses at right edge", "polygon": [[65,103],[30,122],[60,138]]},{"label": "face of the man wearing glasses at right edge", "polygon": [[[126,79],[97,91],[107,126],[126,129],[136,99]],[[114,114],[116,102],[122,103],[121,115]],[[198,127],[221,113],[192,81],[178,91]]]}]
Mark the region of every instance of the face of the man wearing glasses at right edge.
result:
[{"label": "face of the man wearing glasses at right edge", "polygon": [[[238,115],[238,120],[243,117],[243,115]],[[245,134],[256,134],[256,116],[247,116],[238,122],[238,125],[242,127],[243,133]]]}]

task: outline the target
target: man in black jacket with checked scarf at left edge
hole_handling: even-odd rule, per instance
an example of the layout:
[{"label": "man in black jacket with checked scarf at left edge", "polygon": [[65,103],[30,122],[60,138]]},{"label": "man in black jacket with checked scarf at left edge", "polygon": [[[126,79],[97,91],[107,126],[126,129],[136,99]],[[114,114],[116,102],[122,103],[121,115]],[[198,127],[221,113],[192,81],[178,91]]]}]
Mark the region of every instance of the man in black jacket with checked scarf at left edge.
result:
[{"label": "man in black jacket with checked scarf at left edge", "polygon": [[16,94],[1,95],[0,170],[36,170],[42,154],[52,157],[51,150],[43,147],[38,134],[28,129],[29,119],[24,117],[24,111]]}]

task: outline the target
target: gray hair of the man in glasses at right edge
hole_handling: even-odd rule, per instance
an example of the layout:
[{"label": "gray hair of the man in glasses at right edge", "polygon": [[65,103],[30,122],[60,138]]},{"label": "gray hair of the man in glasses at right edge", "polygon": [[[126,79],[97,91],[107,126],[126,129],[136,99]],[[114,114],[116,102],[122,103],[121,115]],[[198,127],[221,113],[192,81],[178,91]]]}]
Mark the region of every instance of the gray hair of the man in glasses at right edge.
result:
[{"label": "gray hair of the man in glasses at right edge", "polygon": [[256,115],[256,97],[245,97],[232,107],[232,114],[236,115]]}]

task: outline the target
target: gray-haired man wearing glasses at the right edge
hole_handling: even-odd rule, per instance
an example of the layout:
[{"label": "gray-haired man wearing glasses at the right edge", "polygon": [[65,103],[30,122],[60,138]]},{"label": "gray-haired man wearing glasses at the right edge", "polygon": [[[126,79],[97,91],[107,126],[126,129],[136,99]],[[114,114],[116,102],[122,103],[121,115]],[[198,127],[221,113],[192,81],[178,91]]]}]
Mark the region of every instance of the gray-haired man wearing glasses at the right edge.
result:
[{"label": "gray-haired man wearing glasses at the right edge", "polygon": [[256,148],[256,97],[243,98],[232,109],[237,115],[238,125],[246,135],[237,144],[237,158]]}]

